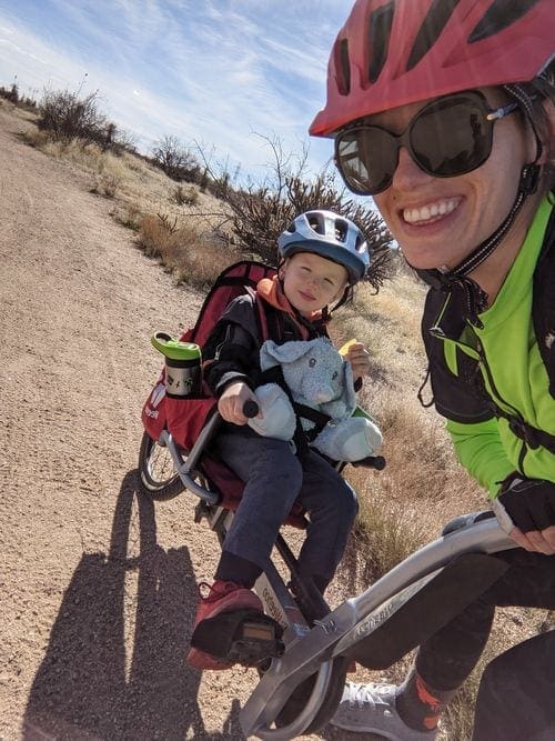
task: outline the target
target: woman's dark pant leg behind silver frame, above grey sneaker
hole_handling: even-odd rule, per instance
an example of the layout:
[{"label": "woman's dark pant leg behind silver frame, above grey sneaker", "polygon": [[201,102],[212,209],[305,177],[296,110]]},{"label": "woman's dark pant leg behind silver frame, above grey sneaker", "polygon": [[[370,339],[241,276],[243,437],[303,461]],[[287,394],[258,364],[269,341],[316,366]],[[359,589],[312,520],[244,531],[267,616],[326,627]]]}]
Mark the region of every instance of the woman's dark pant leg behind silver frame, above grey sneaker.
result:
[{"label": "woman's dark pant leg behind silver frame, above grey sneaker", "polygon": [[[468,677],[487,642],[496,607],[555,609],[555,555],[521,548],[496,555],[509,563],[504,575],[418,650],[416,671],[436,690],[454,690]],[[529,672],[535,675],[533,665]],[[555,703],[553,673],[551,678]],[[512,702],[511,698],[507,701]]]}]

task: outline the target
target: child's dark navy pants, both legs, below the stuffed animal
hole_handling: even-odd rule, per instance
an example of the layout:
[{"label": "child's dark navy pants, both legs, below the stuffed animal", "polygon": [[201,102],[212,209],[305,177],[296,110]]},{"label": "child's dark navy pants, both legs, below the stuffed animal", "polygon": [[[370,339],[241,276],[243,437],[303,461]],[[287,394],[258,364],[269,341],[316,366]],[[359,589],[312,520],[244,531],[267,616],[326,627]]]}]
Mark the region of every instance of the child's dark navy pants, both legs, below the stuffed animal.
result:
[{"label": "child's dark navy pants, both legs, below the stuffed animal", "polygon": [[[356,515],[353,489],[319,453],[310,451],[301,462],[287,442],[262,438],[249,428],[221,433],[215,448],[245,483],[216,578],[252,582],[255,574],[249,564],[255,564],[258,573],[264,569],[278,532],[297,500],[309,513],[299,569],[302,575],[315,578],[319,588],[325,588]],[[226,559],[226,554],[238,558]]]}]

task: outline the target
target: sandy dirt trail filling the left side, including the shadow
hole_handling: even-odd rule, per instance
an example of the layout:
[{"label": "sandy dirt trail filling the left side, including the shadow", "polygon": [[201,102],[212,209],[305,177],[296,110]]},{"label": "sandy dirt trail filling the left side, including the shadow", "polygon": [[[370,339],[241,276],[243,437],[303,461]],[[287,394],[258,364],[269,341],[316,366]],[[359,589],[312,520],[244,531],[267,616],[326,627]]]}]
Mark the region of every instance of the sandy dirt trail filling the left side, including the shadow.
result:
[{"label": "sandy dirt trail filling the left side, including the shadow", "polygon": [[0,738],[242,739],[255,673],[183,660],[215,538],[135,495],[149,338],[201,297],[22,127],[0,107]]}]

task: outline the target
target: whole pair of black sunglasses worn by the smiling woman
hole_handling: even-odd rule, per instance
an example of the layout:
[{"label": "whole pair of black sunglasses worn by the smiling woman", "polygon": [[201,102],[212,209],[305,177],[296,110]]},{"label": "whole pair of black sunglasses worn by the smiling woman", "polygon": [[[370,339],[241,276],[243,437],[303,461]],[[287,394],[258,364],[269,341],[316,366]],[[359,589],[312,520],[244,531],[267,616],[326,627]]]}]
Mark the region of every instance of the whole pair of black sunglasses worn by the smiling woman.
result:
[{"label": "whole pair of black sunglasses worn by the smiling woman", "polygon": [[359,123],[335,137],[335,164],[347,188],[360,196],[386,190],[405,147],[416,164],[436,178],[475,170],[492,152],[493,126],[517,108],[491,109],[481,92],[438,98],[424,106],[401,134]]}]

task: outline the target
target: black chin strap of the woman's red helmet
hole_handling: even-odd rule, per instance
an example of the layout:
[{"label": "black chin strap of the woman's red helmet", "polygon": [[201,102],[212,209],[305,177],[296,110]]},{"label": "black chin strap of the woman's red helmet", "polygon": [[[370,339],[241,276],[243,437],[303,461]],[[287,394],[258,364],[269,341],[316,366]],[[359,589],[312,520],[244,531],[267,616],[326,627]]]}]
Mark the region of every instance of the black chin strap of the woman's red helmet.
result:
[{"label": "black chin strap of the woman's red helmet", "polygon": [[[537,158],[536,158],[537,160]],[[475,270],[492,252],[501,244],[508,230],[513,226],[516,216],[521,211],[528,196],[535,192],[539,176],[539,166],[535,162],[525,164],[521,172],[518,192],[511,208],[511,211],[497,229],[490,234],[481,244],[476,247],[468,256],[452,270],[438,270],[435,268],[423,270],[414,268],[416,273],[433,289],[450,292],[455,287],[463,289],[466,297],[466,317],[475,327],[482,327],[478,314],[487,307],[487,293],[468,278],[468,273]],[[411,263],[408,263],[411,264]],[[412,267],[412,266],[411,266]]]}]

